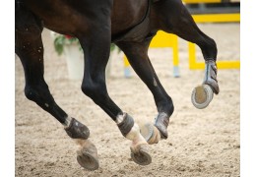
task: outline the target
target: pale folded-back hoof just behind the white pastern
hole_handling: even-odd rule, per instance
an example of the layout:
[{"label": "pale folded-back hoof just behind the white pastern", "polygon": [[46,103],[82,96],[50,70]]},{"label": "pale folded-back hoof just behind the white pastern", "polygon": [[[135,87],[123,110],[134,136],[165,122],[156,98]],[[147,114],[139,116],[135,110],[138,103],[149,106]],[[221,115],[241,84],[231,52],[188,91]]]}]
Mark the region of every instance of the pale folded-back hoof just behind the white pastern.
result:
[{"label": "pale folded-back hoof just behind the white pastern", "polygon": [[141,134],[148,144],[158,144],[160,142],[160,131],[153,124],[144,124],[141,128]]}]

